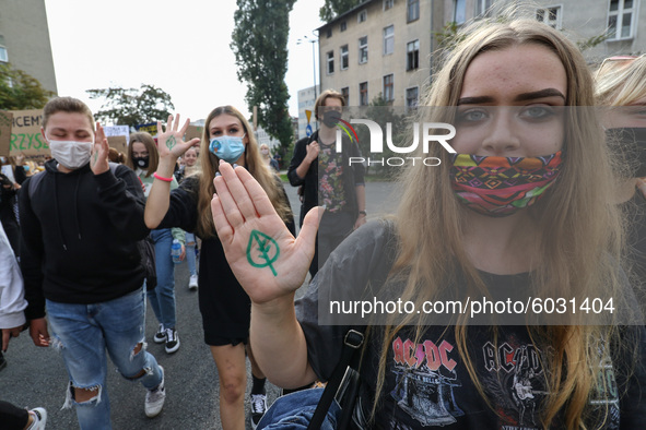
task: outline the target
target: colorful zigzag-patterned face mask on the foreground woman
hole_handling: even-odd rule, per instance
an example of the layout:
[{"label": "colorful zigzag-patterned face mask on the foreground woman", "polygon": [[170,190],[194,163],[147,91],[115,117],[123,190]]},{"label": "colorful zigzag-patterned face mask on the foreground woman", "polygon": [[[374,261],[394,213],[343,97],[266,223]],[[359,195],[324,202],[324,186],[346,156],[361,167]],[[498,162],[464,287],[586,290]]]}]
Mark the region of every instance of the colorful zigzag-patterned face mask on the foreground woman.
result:
[{"label": "colorful zigzag-patterned face mask on the foreground woman", "polygon": [[502,217],[536,203],[559,177],[561,151],[542,157],[451,154],[450,180],[458,200],[488,216]]}]

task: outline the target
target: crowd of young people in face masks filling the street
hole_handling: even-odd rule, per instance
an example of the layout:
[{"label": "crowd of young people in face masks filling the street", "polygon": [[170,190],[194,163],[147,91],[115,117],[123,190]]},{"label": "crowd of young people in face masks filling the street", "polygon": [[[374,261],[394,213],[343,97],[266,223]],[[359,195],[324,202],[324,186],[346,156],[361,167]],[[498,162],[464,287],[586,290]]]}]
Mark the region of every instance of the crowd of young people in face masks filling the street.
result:
[{"label": "crowd of young people in face masks filling the street", "polygon": [[[274,158],[235,107],[214,108],[203,136],[188,141],[189,121],[171,116],[155,140],[133,133],[126,156],[109,163],[90,109],[50,100],[51,159],[43,172],[27,177],[21,160],[13,180],[2,177],[2,349],[25,323],[36,346],[60,349],[64,407],[82,429],[111,428],[107,355],[145,389],[145,415],[157,416],[165,380],[185,378],[145,348],[146,298],[160,324],[154,342],[167,354],[180,345],[175,240],[198,291],[225,429],[245,426],[247,358],[254,428],[312,419],[326,394],[309,387],[345,366],[351,333],[362,339],[353,428],[642,428],[646,57],[591,70],[562,33],[533,20],[463,31],[420,104],[444,109],[419,109],[455,126],[454,152],[431,145],[438,166],[403,170],[390,219],[366,223],[365,171],[348,163],[361,155],[357,142],[337,142],[345,100],[321,93],[320,129],[296,142],[287,168],[302,187],[297,236]],[[154,243],[154,287],[144,240]],[[609,298],[613,311],[573,310],[551,323],[470,324],[459,313],[428,323],[420,312],[319,323],[326,300],[366,291],[416,309],[520,295]],[[267,379],[290,392],[269,411]],[[324,428],[348,409],[330,407]],[[8,428],[46,420],[42,408],[0,402]]]}]

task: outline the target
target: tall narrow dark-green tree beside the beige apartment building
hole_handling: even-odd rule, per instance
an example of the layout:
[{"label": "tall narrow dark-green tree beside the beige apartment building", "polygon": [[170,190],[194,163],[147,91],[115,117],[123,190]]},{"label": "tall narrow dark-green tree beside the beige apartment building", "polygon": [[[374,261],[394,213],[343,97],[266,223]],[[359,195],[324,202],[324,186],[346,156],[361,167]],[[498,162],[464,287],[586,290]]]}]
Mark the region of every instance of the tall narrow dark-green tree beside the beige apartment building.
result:
[{"label": "tall narrow dark-green tree beside the beige apartment building", "polygon": [[295,0],[237,0],[231,49],[236,57],[237,76],[247,83],[249,110],[258,107],[258,123],[286,147],[293,140],[287,109],[290,94],[287,35],[290,11]]}]

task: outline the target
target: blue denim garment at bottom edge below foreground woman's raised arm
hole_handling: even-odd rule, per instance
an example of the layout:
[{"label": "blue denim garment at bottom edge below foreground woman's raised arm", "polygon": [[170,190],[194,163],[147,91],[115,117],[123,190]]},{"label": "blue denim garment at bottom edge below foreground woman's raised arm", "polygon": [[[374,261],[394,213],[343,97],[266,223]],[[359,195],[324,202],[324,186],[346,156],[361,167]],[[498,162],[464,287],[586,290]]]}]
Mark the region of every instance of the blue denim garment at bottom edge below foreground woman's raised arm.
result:
[{"label": "blue denim garment at bottom edge below foreground woman's raised arm", "polygon": [[[302,390],[279,397],[258,422],[260,429],[303,430],[307,429],[324,389]],[[321,430],[333,430],[341,416],[341,407],[333,401]]]}]

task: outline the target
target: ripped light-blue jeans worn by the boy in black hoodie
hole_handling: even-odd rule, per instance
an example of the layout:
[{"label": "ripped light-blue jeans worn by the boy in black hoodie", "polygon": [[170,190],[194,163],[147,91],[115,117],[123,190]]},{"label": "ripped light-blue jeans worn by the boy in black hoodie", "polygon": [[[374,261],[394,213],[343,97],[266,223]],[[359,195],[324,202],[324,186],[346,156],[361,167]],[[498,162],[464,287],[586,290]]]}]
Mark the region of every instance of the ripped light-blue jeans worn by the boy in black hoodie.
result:
[{"label": "ripped light-blue jeans worn by the boy in black hoodie", "polygon": [[[63,408],[75,406],[81,429],[111,429],[105,386],[106,349],[126,379],[139,381],[149,390],[162,382],[157,360],[145,350],[143,289],[93,304],[47,300],[47,314],[52,331],[51,345],[61,351],[70,377]],[[142,370],[145,373],[138,378]],[[91,390],[94,396],[77,403],[74,387]]]}]

